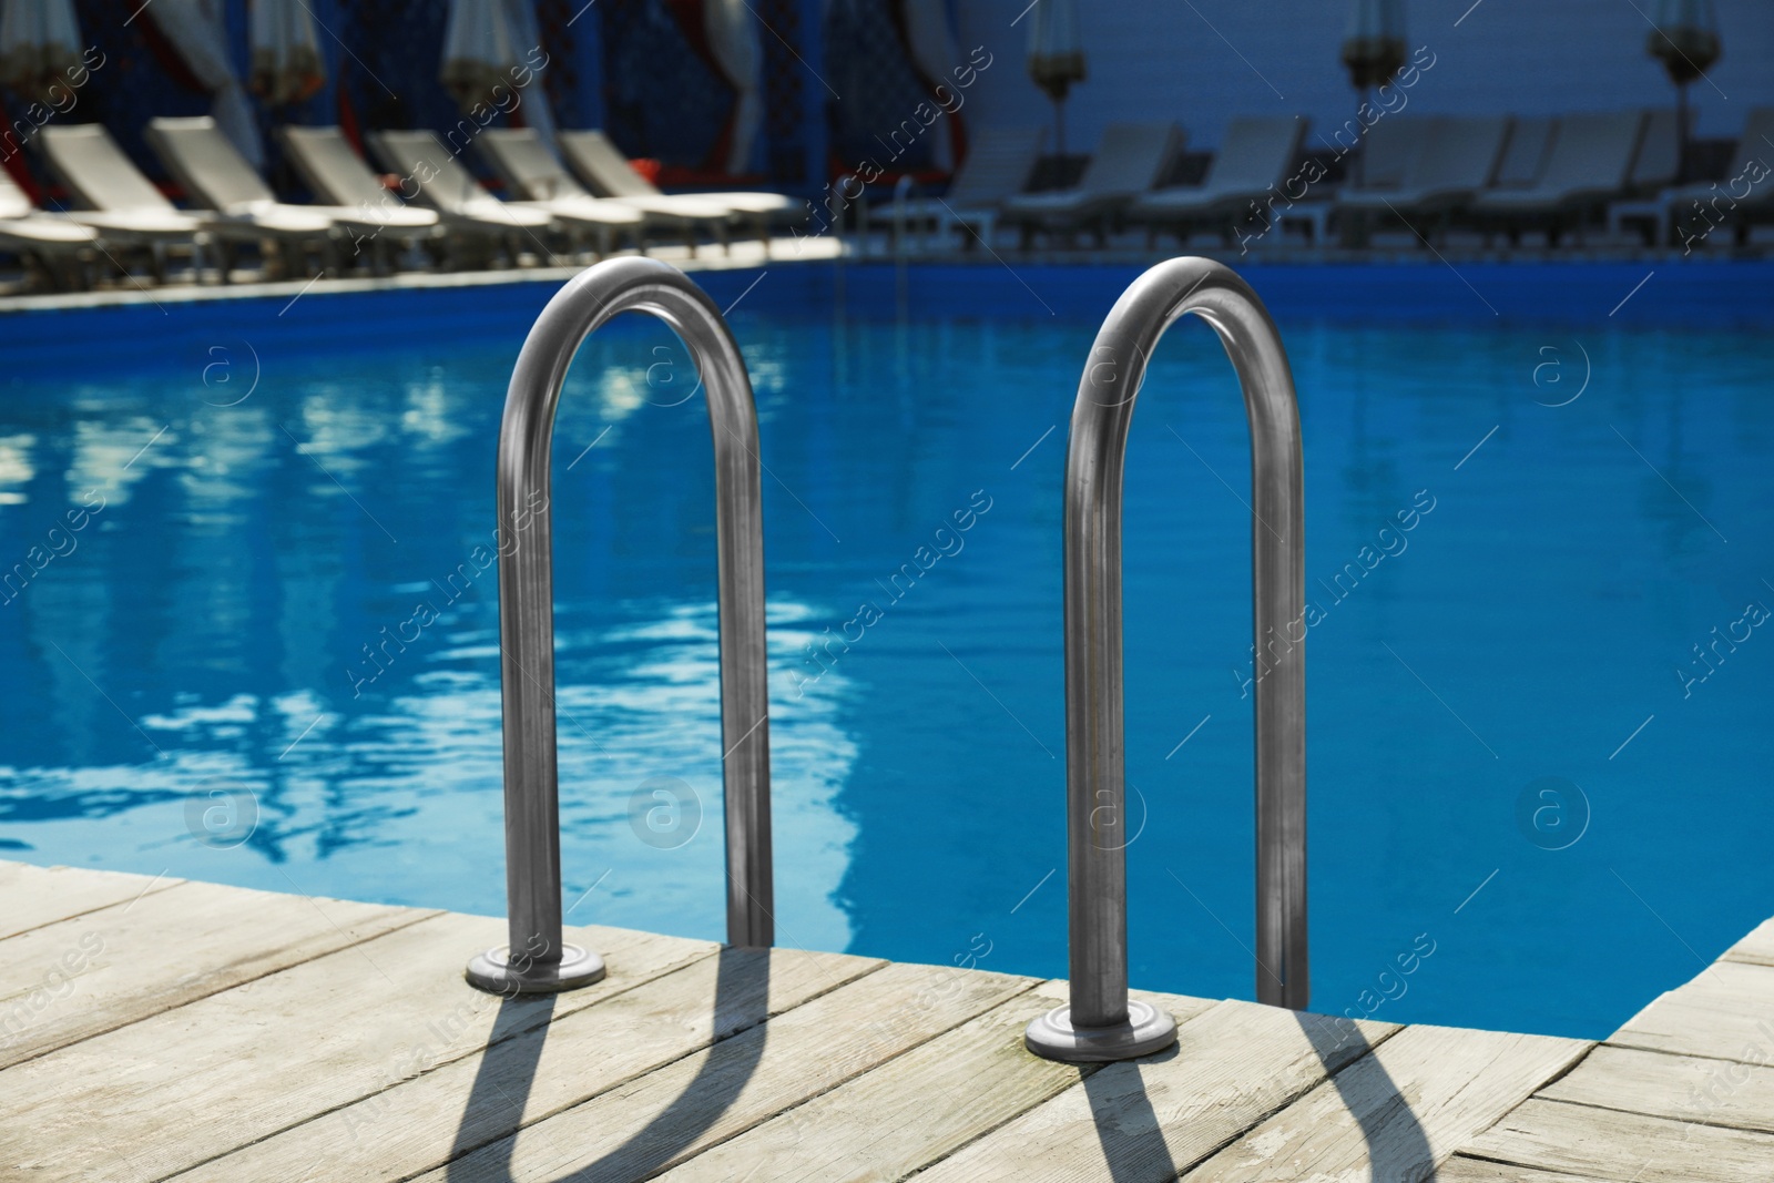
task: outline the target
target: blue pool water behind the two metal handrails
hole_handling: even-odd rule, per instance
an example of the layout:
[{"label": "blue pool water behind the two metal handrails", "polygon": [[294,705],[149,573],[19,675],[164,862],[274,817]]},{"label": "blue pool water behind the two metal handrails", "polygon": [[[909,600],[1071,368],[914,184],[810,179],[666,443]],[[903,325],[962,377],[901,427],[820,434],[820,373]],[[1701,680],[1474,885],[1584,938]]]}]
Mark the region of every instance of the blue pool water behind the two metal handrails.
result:
[{"label": "blue pool water behind the two metal handrails", "polygon": [[[1611,316],[1644,270],[1251,271],[1322,610],[1315,1009],[1600,1036],[1774,913],[1770,271],[1659,270]],[[1059,477],[1132,275],[706,278],[768,466],[784,944],[1064,974]],[[548,294],[0,321],[0,857],[504,910],[474,555]],[[720,936],[694,390],[642,319],[568,381],[562,846],[571,922]],[[1185,321],[1130,445],[1126,740],[1132,979],[1197,995],[1252,995],[1247,484]]]}]

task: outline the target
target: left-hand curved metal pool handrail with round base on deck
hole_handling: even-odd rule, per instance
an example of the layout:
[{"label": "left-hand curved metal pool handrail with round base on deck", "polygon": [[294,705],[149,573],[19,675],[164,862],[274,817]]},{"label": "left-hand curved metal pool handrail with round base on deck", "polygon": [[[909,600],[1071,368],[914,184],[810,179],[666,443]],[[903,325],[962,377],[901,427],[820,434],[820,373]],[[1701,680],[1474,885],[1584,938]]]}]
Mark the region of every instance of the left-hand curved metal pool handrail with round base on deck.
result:
[{"label": "left-hand curved metal pool handrail with round base on deck", "polygon": [[727,814],[727,942],[770,945],[770,722],[757,411],[720,309],[655,259],[610,259],[568,282],[530,328],[498,427],[498,640],[506,743],[506,887],[511,944],[468,963],[497,993],[548,993],[603,977],[596,952],[561,936],[555,780],[550,445],[580,342],[617,312],[651,312],[683,339],[715,436],[720,599],[720,743]]}]

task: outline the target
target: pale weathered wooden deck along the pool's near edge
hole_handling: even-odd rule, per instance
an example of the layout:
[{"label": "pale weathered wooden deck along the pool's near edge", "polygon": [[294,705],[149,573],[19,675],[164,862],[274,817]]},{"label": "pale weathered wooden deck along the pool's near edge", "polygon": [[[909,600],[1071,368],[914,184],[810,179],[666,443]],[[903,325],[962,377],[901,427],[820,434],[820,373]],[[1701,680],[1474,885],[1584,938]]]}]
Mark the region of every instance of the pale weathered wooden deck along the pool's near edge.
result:
[{"label": "pale weathered wooden deck along the pool's near edge", "polygon": [[0,1178],[1774,1179],[1774,921],[1602,1045],[1141,995],[1178,1048],[1022,1050],[1063,983],[0,862]]}]

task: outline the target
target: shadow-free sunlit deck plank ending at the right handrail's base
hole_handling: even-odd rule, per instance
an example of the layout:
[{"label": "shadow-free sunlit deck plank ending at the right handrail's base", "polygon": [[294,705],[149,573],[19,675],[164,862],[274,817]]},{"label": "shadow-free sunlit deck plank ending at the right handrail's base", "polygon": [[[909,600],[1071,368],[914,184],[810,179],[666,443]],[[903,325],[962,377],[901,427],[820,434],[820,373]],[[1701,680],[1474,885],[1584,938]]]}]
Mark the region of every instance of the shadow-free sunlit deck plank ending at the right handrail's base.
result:
[{"label": "shadow-free sunlit deck plank ending at the right handrail's base", "polygon": [[[1071,1064],[1029,1055],[1022,1029],[1066,1000],[1043,983],[805,1105],[667,1172],[671,1183],[862,1183],[901,1179],[1079,1082]],[[1166,995],[1176,1018],[1213,1007]]]}]

